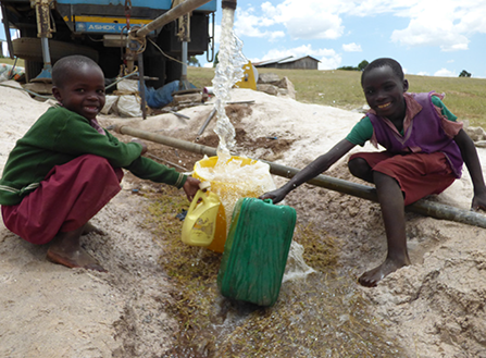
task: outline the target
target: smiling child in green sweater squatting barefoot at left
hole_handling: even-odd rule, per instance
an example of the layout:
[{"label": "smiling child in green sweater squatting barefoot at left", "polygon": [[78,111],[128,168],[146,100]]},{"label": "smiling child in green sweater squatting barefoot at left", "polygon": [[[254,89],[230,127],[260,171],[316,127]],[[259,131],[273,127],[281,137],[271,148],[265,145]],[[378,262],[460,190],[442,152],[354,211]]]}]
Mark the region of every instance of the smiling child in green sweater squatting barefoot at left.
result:
[{"label": "smiling child in green sweater squatting barefoot at left", "polygon": [[47,258],[68,268],[104,269],[79,244],[88,223],[120,190],[123,169],[155,183],[184,188],[192,200],[199,181],[146,157],[141,140],[121,143],[97,122],[104,106],[100,66],[82,55],[52,69],[50,108],[21,138],[0,180],[5,226],[33,244],[50,243]]}]

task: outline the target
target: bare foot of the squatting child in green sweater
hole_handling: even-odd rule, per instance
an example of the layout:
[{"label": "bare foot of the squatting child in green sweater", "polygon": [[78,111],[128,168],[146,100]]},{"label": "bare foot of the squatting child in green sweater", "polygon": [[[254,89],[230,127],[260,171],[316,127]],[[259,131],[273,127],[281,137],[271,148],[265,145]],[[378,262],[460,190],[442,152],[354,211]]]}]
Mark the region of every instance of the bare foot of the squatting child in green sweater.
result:
[{"label": "bare foot of the squatting child in green sweater", "polygon": [[58,233],[47,250],[47,259],[67,268],[83,268],[105,272],[98,261],[80,247],[79,238],[85,226],[72,232]]}]

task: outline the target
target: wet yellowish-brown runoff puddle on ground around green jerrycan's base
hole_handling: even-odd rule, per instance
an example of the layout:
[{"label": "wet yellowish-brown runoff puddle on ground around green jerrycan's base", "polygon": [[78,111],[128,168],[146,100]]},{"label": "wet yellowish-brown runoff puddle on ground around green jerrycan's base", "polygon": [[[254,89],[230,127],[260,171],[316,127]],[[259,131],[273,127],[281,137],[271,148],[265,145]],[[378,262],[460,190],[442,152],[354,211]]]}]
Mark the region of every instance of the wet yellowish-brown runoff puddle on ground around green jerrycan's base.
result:
[{"label": "wet yellowish-brown runoff puddle on ground around green jerrycan's base", "polygon": [[155,221],[161,232],[154,236],[165,236],[162,245],[171,252],[161,263],[175,284],[164,311],[179,323],[163,357],[407,357],[387,335],[390,323],[369,313],[356,276],[337,263],[337,239],[324,231],[297,225],[294,240],[314,272],[292,279],[307,269],[290,268],[276,304],[258,307],[221,295],[220,254],[182,245],[172,215]]}]

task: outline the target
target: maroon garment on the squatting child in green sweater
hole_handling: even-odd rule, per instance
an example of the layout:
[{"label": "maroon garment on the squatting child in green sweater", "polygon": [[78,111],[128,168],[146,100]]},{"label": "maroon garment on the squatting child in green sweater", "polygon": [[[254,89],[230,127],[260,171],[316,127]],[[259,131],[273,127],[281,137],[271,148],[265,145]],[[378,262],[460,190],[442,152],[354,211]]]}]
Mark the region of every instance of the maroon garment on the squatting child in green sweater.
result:
[{"label": "maroon garment on the squatting child in green sweater", "polygon": [[49,243],[95,217],[121,190],[122,178],[123,171],[107,159],[80,156],[54,166],[21,203],[2,206],[3,222],[29,243]]}]

